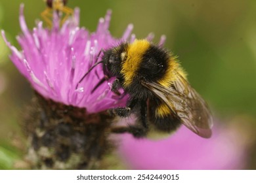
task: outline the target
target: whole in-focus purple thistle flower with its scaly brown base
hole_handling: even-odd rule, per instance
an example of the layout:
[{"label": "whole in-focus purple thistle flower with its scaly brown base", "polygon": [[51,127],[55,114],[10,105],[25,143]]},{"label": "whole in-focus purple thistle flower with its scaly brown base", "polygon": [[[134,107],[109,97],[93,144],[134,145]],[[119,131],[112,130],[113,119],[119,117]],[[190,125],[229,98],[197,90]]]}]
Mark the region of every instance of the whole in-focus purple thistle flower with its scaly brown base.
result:
[{"label": "whole in-focus purple thistle flower with its scaly brown base", "polygon": [[[12,62],[39,93],[32,99],[32,107],[24,112],[28,114],[24,117],[24,127],[30,144],[28,159],[33,168],[95,169],[104,166],[104,156],[112,150],[109,129],[114,123],[114,117],[105,110],[125,105],[127,97],[118,99],[111,92],[113,79],[91,93],[104,78],[101,65],[81,83],[79,81],[99,61],[101,50],[123,41],[135,41],[131,24],[120,39],[112,37],[108,31],[110,18],[108,11],[105,18],[100,18],[96,31],[89,33],[79,27],[79,9],[76,8],[74,17],[61,27],[55,13],[52,29],[37,22],[30,31],[24,19],[24,5],[21,5],[22,34],[17,40],[22,51],[12,46],[5,32],[1,32],[12,51]],[[146,37],[148,41],[153,38],[152,33]],[[165,36],[162,36],[159,45],[164,42]]]}]

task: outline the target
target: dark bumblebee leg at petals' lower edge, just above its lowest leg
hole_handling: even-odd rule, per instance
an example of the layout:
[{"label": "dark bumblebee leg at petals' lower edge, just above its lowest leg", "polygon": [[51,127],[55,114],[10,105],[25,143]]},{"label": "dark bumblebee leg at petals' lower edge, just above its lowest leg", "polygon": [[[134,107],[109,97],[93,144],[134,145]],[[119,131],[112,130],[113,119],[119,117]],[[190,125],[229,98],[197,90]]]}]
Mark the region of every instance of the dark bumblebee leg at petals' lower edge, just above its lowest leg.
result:
[{"label": "dark bumblebee leg at petals' lower edge, just above its lowest leg", "polygon": [[133,107],[135,107],[137,102],[138,102],[137,99],[133,99],[133,100],[130,101],[130,103],[127,107],[111,108],[109,110],[109,112],[112,115],[117,115],[117,116],[120,116],[122,118],[125,118],[125,117],[127,117],[131,114],[131,110],[133,109]]}]

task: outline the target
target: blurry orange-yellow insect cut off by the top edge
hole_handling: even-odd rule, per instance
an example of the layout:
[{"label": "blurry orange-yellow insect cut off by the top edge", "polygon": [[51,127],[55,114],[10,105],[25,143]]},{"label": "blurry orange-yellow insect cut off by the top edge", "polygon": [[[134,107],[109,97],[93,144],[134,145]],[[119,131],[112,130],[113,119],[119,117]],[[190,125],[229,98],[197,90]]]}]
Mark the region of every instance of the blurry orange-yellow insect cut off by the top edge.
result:
[{"label": "blurry orange-yellow insect cut off by the top edge", "polygon": [[51,18],[53,18],[53,11],[57,11],[58,13],[64,13],[64,17],[61,20],[61,24],[63,24],[70,15],[73,14],[74,10],[72,8],[66,7],[68,0],[43,0],[45,1],[47,8],[41,12],[41,16],[43,20],[49,25],[52,26]]}]

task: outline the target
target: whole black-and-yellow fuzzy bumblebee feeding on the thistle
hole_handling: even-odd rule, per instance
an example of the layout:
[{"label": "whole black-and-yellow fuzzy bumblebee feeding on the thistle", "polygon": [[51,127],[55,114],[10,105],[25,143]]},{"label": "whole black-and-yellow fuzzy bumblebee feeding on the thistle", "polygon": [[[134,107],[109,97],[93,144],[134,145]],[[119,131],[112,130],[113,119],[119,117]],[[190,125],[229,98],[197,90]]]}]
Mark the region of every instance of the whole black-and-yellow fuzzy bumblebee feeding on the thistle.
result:
[{"label": "whole black-and-yellow fuzzy bumblebee feeding on the thistle", "polygon": [[123,42],[104,51],[98,63],[103,63],[106,78],[116,77],[112,92],[123,88],[129,95],[126,107],[112,108],[110,113],[137,115],[135,125],[114,127],[112,132],[146,137],[152,130],[171,133],[184,124],[201,137],[211,137],[207,104],[186,80],[177,58],[164,48],[146,40]]}]

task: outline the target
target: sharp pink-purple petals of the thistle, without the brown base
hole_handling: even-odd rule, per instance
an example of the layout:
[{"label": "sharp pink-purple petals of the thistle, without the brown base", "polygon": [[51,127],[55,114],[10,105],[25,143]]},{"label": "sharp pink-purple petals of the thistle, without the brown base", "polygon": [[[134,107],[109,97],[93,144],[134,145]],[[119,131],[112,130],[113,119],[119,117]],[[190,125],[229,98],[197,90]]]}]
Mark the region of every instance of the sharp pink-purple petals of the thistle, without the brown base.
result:
[{"label": "sharp pink-purple petals of the thistle, without the brown base", "polygon": [[[128,25],[123,37],[115,39],[110,35],[111,11],[100,18],[94,33],[79,27],[79,9],[74,17],[59,27],[60,19],[53,16],[53,28],[45,29],[42,22],[30,31],[24,20],[24,5],[20,6],[20,27],[22,35],[17,40],[22,48],[18,51],[5,38],[12,50],[11,60],[33,88],[47,99],[85,107],[88,112],[98,112],[107,108],[124,105],[125,100],[117,100],[110,92],[108,82],[104,82],[91,93],[100,79],[104,78],[101,65],[98,65],[76,88],[81,77],[97,61],[100,50],[116,46],[121,41],[133,41],[133,25]],[[131,36],[130,36],[131,35]],[[99,58],[100,59],[100,58]]]}]

